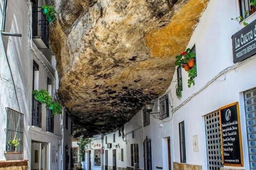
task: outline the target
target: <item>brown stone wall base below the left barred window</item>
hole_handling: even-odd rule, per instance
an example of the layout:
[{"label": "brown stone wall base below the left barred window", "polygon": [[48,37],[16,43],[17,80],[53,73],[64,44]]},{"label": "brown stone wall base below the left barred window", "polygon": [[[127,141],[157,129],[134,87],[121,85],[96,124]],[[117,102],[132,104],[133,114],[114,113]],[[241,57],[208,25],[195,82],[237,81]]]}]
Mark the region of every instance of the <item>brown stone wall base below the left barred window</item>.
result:
[{"label": "brown stone wall base below the left barred window", "polygon": [[0,170],[27,170],[28,160],[0,161]]}]

